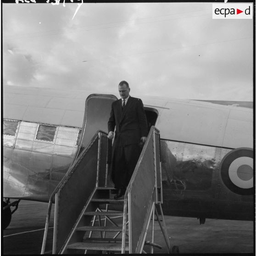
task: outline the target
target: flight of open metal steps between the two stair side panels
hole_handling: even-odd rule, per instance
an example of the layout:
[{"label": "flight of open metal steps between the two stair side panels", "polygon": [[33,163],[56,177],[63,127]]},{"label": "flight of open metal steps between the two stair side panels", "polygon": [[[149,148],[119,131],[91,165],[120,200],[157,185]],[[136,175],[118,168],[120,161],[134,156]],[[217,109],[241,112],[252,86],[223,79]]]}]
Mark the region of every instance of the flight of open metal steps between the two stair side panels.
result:
[{"label": "flight of open metal steps between the two stair side panels", "polygon": [[[124,199],[111,198],[111,189],[113,188],[97,187],[95,189],[61,253],[92,253],[92,251],[120,253],[122,251],[123,212],[108,211],[108,207],[121,206],[122,208]],[[127,225],[125,228],[128,232]],[[124,250],[128,251],[128,239],[126,240]]]}]

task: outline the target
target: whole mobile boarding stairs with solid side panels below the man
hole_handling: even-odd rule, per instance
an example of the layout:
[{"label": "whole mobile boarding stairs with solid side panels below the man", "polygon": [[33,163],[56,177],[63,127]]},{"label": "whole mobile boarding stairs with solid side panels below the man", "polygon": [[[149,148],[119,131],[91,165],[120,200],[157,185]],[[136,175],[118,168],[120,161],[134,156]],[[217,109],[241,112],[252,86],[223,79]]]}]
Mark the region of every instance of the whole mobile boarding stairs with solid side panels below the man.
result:
[{"label": "whole mobile boarding stairs with solid side panels below the man", "polygon": [[126,193],[117,200],[108,186],[110,156],[111,140],[98,131],[50,197],[41,254],[53,202],[53,254],[153,253],[162,248],[154,242],[155,217],[167,246],[163,253],[170,253],[161,208],[159,131],[150,128]]}]

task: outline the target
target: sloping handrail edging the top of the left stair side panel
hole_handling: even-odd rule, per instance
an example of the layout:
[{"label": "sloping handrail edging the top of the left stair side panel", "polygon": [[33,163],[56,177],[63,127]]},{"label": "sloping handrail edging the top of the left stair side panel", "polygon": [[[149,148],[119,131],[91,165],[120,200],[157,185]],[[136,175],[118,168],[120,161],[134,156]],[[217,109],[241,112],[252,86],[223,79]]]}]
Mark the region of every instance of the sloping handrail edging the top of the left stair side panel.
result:
[{"label": "sloping handrail edging the top of the left stair side panel", "polygon": [[[62,185],[67,182],[67,180],[71,177],[72,173],[75,172],[75,169],[73,170],[73,167],[76,165],[77,162],[79,162],[80,158],[86,155],[87,151],[91,148],[91,146],[94,144],[95,140],[97,138],[100,139],[101,134],[105,134],[107,136],[107,133],[101,130],[98,130],[93,138],[90,140],[88,145],[83,149],[83,151],[79,154],[79,156],[72,162],[70,167],[67,170],[67,173],[64,175],[64,177],[61,179],[59,184],[56,186],[52,194],[50,195],[49,199],[49,204],[48,204],[48,211],[47,211],[47,216],[46,216],[46,222],[45,222],[45,232],[44,232],[44,238],[43,238],[43,244],[42,244],[42,249],[41,249],[41,254],[45,253],[45,246],[46,246],[46,241],[47,241],[47,233],[49,229],[49,223],[50,223],[50,213],[51,213],[51,207],[53,203],[53,199],[56,198],[56,195],[58,191],[61,189]],[[98,159],[99,161],[99,159]],[[73,170],[73,172],[72,172]]]}]

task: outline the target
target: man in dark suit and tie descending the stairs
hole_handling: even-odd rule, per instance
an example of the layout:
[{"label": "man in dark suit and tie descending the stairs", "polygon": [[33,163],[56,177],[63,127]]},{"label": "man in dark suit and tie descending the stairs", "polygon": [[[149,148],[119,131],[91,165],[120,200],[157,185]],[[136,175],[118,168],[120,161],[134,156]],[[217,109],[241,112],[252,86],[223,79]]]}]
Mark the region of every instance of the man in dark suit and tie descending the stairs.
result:
[{"label": "man in dark suit and tie descending the stairs", "polygon": [[118,85],[120,100],[112,103],[108,121],[108,138],[114,138],[112,150],[111,177],[117,193],[115,199],[125,194],[140,155],[139,145],[147,138],[147,119],[140,99],[129,96],[130,88],[126,81]]}]

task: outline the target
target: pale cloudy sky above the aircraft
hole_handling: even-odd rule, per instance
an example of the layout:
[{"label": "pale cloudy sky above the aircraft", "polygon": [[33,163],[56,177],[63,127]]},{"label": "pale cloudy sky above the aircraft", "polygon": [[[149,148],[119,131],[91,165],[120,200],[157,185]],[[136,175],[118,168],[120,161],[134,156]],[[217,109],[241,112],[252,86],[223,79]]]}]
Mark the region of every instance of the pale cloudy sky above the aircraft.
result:
[{"label": "pale cloudy sky above the aircraft", "polygon": [[252,19],[212,19],[212,3],[12,2],[4,85],[253,100]]}]

